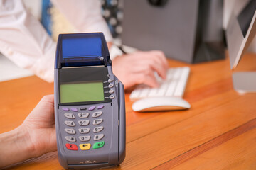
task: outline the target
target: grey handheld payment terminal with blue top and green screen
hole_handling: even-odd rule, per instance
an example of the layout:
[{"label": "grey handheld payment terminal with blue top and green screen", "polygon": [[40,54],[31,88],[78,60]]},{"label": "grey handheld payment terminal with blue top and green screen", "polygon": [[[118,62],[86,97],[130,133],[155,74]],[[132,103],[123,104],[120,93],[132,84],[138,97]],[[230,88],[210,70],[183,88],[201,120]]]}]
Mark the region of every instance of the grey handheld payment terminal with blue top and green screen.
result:
[{"label": "grey handheld payment terminal with blue top and green screen", "polygon": [[65,169],[121,164],[124,86],[112,73],[102,33],[60,34],[55,56],[55,126]]}]

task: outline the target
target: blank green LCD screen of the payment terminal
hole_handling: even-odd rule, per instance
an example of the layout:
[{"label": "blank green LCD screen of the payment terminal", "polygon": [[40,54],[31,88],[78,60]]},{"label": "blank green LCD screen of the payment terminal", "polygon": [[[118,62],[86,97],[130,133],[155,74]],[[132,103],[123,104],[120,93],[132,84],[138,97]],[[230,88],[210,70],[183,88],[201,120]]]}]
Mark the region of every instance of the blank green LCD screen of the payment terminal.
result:
[{"label": "blank green LCD screen of the payment terminal", "polygon": [[102,82],[60,84],[60,103],[104,101]]}]

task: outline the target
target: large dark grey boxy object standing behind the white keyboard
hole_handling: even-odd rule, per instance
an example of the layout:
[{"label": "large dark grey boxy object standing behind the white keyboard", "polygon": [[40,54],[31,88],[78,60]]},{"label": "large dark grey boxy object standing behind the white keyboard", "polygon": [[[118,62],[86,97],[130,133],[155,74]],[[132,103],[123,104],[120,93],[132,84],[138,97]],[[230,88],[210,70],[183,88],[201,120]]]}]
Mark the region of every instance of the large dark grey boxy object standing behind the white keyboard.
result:
[{"label": "large dark grey boxy object standing behind the white keyboard", "polygon": [[122,44],[196,63],[225,57],[223,0],[124,0]]}]

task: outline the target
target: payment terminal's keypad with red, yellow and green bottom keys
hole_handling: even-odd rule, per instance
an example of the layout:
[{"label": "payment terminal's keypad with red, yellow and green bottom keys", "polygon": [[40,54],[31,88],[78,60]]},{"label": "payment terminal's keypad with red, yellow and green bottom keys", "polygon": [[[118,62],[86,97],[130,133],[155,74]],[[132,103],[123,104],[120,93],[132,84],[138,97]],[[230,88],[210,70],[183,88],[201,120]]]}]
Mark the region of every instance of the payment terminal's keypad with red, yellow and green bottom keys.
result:
[{"label": "payment terminal's keypad with red, yellow and green bottom keys", "polygon": [[[61,108],[65,111],[64,124],[66,128],[64,131],[67,149],[87,151],[104,147],[105,141],[102,140],[105,137],[104,126],[100,125],[103,122],[102,115],[104,114],[103,111],[100,111],[102,108],[104,108],[104,105],[90,106],[88,108]],[[77,134],[78,136],[76,137],[78,139],[72,136]],[[94,147],[90,148],[91,145]]]}]

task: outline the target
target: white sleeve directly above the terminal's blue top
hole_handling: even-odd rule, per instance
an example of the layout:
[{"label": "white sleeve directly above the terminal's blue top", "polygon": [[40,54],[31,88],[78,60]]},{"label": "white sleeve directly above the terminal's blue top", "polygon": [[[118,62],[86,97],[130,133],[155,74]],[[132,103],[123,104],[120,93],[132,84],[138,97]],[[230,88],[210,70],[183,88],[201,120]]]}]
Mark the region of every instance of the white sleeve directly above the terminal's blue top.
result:
[{"label": "white sleeve directly above the terminal's blue top", "polygon": [[51,0],[76,30],[83,33],[103,32],[107,42],[112,35],[101,15],[99,0]]}]

